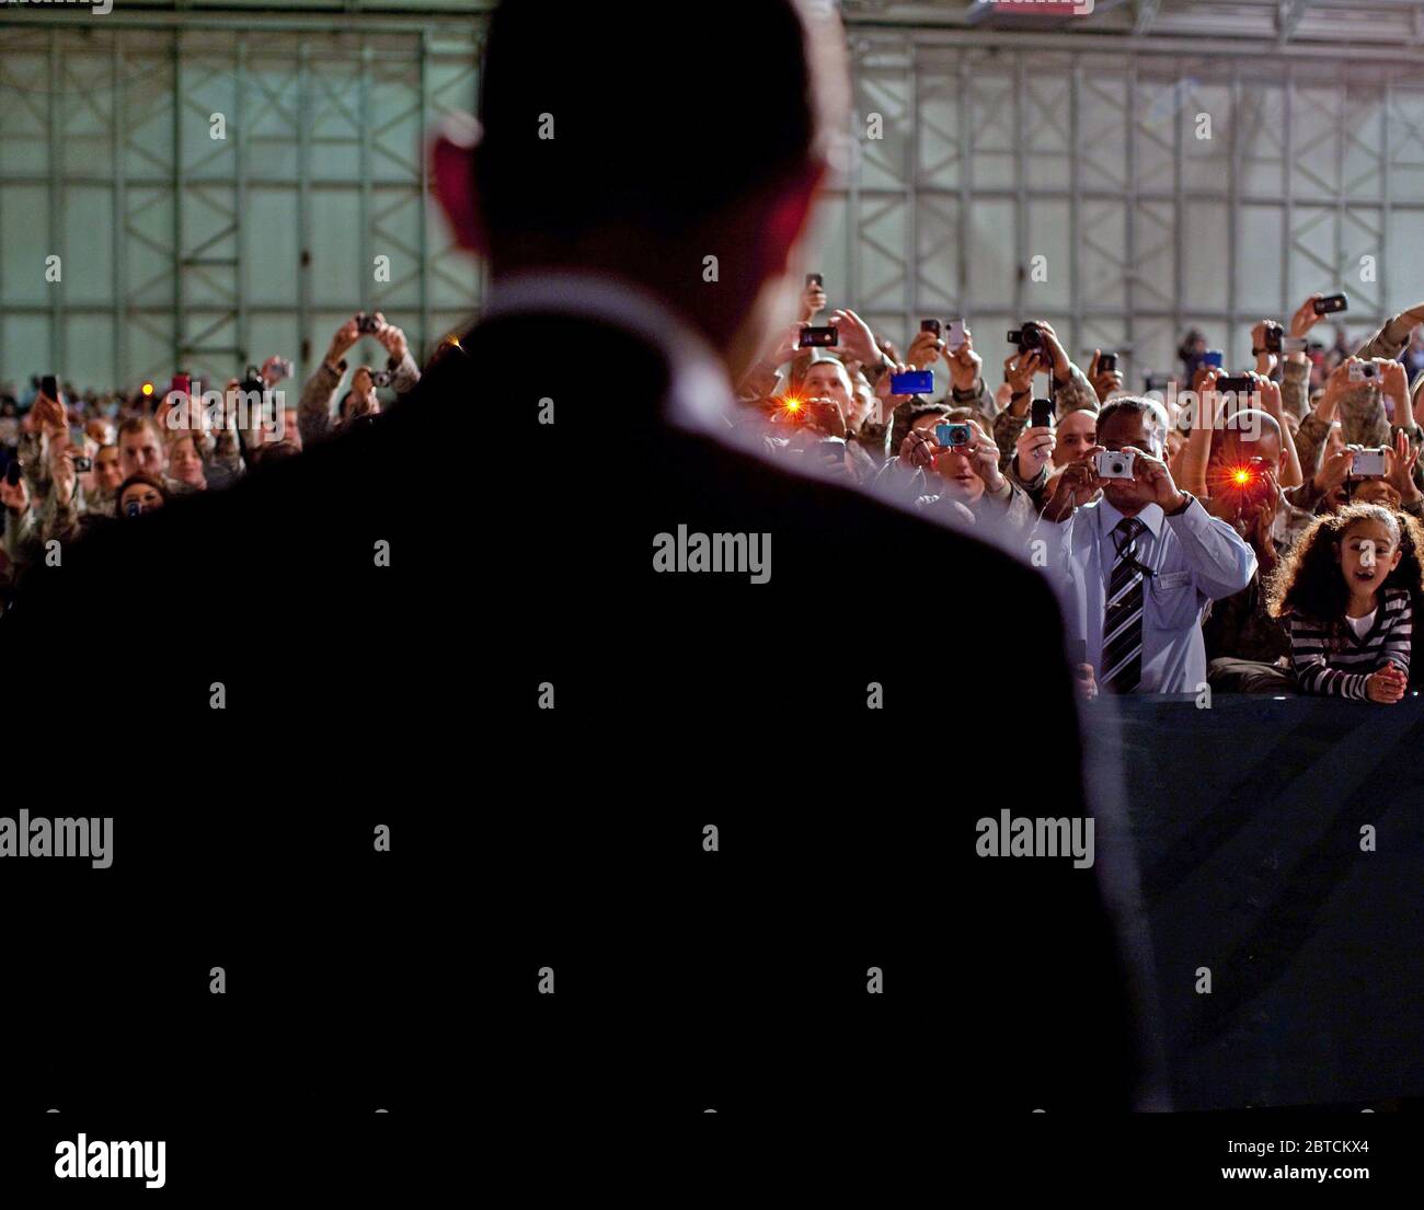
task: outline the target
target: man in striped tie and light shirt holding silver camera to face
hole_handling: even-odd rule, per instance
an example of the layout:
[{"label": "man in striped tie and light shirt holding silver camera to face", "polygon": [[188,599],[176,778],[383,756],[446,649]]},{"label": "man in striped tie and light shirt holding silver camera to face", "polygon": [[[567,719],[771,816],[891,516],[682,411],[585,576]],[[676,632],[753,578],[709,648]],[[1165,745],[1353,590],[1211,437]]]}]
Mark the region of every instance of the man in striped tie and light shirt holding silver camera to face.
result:
[{"label": "man in striped tie and light shirt holding silver camera to face", "polygon": [[[1240,592],[1256,571],[1240,535],[1172,481],[1165,431],[1149,400],[1112,400],[1098,416],[1098,446],[1068,465],[1048,508],[1075,505],[1059,532],[1064,612],[1104,692],[1199,692],[1208,604]],[[1131,454],[1131,477],[1099,475],[1102,451]]]}]

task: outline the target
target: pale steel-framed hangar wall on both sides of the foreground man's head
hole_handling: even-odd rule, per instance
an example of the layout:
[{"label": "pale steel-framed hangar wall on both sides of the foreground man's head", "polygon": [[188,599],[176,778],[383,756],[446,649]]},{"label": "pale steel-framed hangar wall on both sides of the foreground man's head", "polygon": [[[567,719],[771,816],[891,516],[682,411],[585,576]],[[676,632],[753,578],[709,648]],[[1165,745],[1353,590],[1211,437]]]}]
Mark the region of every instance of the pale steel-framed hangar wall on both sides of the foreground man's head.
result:
[{"label": "pale steel-framed hangar wall on both sides of the foreground man's head", "polygon": [[[1381,21],[1418,11],[1370,3]],[[339,26],[0,9],[0,376],[221,376],[268,352],[306,370],[356,307],[426,347],[464,320],[480,269],[429,212],[420,137],[473,104],[486,6],[382,7]],[[1042,316],[1078,353],[1162,370],[1193,323],[1240,363],[1249,325],[1313,289],[1349,290],[1354,327],[1424,298],[1417,23],[1330,43],[1354,10],[1320,0],[1272,14],[1269,41],[1203,44],[1171,34],[1209,3],[1099,3],[1078,33],[844,7],[854,154],[820,208],[819,268],[890,335],[965,313],[993,362],[1000,326]]]}]

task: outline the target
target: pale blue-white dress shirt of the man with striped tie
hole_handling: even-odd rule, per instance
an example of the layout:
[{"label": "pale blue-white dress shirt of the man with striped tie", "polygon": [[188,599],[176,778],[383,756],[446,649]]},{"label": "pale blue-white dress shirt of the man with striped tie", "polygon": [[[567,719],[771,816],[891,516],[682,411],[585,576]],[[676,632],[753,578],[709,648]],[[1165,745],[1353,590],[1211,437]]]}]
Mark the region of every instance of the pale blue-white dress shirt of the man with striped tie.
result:
[{"label": "pale blue-white dress shirt of the man with striped tie", "polygon": [[[1105,497],[1062,522],[1064,614],[1069,645],[1082,639],[1088,662],[1102,673],[1102,616],[1116,562],[1122,514]],[[1151,569],[1142,582],[1142,679],[1138,693],[1196,693],[1206,682],[1202,615],[1209,601],[1250,584],[1256,554],[1225,521],[1193,500],[1168,517],[1149,504],[1138,514],[1136,561]]]}]

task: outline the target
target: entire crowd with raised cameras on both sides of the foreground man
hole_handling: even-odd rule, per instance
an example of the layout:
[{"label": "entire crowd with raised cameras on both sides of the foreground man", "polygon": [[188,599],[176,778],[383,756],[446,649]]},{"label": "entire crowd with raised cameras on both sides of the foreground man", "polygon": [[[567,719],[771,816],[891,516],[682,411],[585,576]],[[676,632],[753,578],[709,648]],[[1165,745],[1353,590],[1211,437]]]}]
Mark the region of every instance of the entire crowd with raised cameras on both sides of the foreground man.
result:
[{"label": "entire crowd with raised cameras on both sides of the foreground man", "polygon": [[[1239,376],[1189,333],[1180,380],[1138,396],[1115,354],[1081,367],[1042,320],[1017,333],[997,386],[958,320],[924,320],[901,356],[854,310],[827,313],[809,275],[799,320],[738,384],[732,423],[773,458],[1021,545],[1057,582],[1088,698],[1210,685],[1397,702],[1424,676],[1411,659],[1424,303],[1350,352],[1343,335],[1309,342],[1319,300],[1257,323]],[[382,367],[347,364],[363,337]],[[924,373],[936,363],[940,397]],[[271,357],[222,391],[177,376],[98,397],[36,379],[0,399],[0,588],[56,544],[228,487],[420,380],[380,315],[337,329],[295,407],[279,389],[289,373]]]}]

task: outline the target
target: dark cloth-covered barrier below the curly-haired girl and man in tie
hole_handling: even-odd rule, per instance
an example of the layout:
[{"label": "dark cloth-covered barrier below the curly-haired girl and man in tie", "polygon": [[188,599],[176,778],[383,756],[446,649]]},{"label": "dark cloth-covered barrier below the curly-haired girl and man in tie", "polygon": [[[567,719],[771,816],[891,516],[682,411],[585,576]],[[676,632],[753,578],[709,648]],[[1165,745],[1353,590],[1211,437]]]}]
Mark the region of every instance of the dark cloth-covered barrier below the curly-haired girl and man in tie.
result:
[{"label": "dark cloth-covered barrier below the curly-haired girl and man in tie", "polygon": [[1173,1108],[1424,1098],[1424,699],[1119,715]]}]

